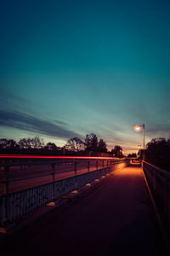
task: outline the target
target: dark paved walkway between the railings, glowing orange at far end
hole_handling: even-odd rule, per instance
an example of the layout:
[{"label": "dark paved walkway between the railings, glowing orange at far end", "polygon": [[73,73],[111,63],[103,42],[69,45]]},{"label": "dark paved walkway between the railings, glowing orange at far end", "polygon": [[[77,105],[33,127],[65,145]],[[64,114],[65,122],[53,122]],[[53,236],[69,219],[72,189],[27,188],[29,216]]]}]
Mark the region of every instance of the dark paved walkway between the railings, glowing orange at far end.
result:
[{"label": "dark paved walkway between the railings, glowing orange at far end", "polygon": [[142,168],[127,166],[66,211],[7,237],[3,255],[166,255]]}]

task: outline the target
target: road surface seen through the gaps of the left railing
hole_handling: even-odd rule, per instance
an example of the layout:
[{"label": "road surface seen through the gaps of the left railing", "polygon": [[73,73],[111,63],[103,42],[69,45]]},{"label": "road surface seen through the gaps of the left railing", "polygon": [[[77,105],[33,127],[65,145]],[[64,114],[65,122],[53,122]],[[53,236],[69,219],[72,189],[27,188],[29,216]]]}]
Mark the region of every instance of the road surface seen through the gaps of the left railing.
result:
[{"label": "road surface seen through the gaps of the left railing", "polygon": [[[50,159],[51,160],[51,159]],[[76,168],[75,168],[76,162]],[[29,165],[30,164],[30,165]],[[98,160],[98,168],[105,166],[111,166],[110,160]],[[88,168],[89,167],[89,168]],[[72,177],[76,174],[82,174],[85,172],[93,172],[96,170],[96,160],[91,158],[66,160],[59,159],[54,166],[54,180],[60,180],[66,177]],[[77,171],[75,171],[77,169]],[[5,170],[0,170],[0,195],[3,195],[5,191]],[[34,165],[29,163],[25,166],[10,166],[8,171],[8,192],[20,191],[22,189],[28,189],[44,183],[51,183],[53,181],[52,165],[50,161],[47,164],[40,163]]]}]

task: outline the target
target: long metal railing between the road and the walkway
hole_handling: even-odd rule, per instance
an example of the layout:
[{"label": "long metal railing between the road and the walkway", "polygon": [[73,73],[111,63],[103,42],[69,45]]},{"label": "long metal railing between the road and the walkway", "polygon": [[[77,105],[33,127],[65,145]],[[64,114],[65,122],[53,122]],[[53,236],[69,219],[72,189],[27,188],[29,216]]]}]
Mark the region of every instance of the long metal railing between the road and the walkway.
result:
[{"label": "long metal railing between the road and the walkway", "polygon": [[[4,226],[128,164],[129,159],[0,164],[0,183],[3,185],[0,225]],[[33,181],[36,181],[34,186]],[[26,183],[28,188],[23,189]]]}]

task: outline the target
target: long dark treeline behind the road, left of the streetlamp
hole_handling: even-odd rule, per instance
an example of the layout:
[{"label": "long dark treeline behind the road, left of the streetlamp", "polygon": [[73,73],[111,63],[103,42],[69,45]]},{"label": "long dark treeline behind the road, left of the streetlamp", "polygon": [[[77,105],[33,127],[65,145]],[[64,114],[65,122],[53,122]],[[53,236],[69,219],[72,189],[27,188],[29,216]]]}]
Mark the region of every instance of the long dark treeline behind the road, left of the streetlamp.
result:
[{"label": "long dark treeline behind the road, left of the streetlamp", "polygon": [[116,156],[123,157],[122,147],[116,145],[111,151],[102,138],[94,133],[87,134],[85,139],[71,137],[64,147],[55,143],[44,143],[40,137],[24,137],[19,142],[14,139],[0,139],[1,154],[48,154],[48,155],[91,155],[91,156]]}]

